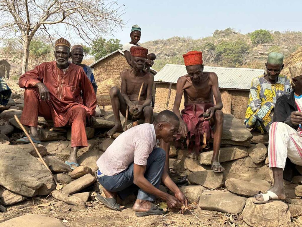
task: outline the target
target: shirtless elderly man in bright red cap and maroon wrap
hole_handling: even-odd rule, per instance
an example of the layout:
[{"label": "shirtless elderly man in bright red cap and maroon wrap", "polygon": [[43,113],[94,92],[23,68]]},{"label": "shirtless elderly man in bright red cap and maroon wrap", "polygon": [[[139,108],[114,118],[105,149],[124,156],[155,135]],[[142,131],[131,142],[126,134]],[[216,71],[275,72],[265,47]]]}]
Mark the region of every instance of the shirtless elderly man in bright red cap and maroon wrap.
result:
[{"label": "shirtless elderly man in bright red cap and maroon wrap", "polygon": [[[183,55],[187,75],[179,77],[176,84],[176,97],[173,112],[180,120],[179,134],[187,138],[189,153],[193,150],[199,154],[203,149],[209,148],[209,140],[213,138],[214,146],[212,166],[214,172],[222,172],[224,168],[218,162],[221,137],[223,133],[223,104],[218,88],[218,77],[213,72],[204,72],[202,52],[190,51]],[[185,109],[179,111],[182,94],[185,97]],[[216,100],[214,104],[213,94]],[[166,168],[169,163],[170,143],[161,141],[161,147],[166,151]]]}]

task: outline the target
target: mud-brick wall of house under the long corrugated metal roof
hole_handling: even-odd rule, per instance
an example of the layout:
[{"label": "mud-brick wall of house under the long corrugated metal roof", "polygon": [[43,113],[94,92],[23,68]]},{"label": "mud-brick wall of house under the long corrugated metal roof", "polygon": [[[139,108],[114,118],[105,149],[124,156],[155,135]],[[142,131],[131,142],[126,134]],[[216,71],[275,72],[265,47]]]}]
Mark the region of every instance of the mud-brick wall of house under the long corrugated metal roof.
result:
[{"label": "mud-brick wall of house under the long corrugated metal roof", "polygon": [[[168,92],[169,92],[168,83],[156,82],[156,93],[155,93],[156,101],[155,101],[154,112],[160,112],[166,109]],[[232,94],[231,113],[238,119],[244,119],[247,102],[249,99],[249,91],[228,90],[228,92]],[[172,110],[173,108],[175,95],[176,95],[176,84],[172,84],[168,110]],[[182,98],[182,102],[180,104],[179,109],[182,110],[183,108],[184,108],[184,98]]]}]

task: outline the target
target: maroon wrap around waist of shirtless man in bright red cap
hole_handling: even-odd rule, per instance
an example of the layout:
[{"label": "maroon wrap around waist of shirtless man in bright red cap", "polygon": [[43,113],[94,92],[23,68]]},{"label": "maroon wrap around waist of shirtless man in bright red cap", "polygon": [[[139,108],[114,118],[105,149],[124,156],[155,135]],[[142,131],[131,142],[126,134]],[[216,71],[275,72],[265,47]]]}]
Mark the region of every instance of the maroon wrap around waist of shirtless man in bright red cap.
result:
[{"label": "maroon wrap around waist of shirtless man in bright red cap", "polygon": [[[210,121],[204,120],[203,113],[210,107],[214,107],[213,103],[188,104],[182,110],[182,120],[188,127],[187,138],[190,140],[188,152],[195,150],[199,154],[202,149],[209,148],[209,140],[213,138],[213,130]],[[204,133],[206,142],[204,142]],[[181,135],[178,133],[176,141],[180,140]],[[202,145],[201,145],[202,143]]]}]

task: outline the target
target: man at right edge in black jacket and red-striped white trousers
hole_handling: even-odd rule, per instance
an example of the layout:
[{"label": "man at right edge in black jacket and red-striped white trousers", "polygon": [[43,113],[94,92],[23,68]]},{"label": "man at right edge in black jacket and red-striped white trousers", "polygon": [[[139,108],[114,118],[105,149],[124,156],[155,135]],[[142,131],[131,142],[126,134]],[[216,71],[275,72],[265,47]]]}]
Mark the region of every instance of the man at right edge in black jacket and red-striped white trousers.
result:
[{"label": "man at right edge in black jacket and red-striped white trousers", "polygon": [[283,170],[288,157],[302,166],[302,62],[289,67],[293,91],[282,95],[275,105],[273,123],[269,130],[268,161],[273,171],[274,186],[256,195],[254,203],[285,200]]}]

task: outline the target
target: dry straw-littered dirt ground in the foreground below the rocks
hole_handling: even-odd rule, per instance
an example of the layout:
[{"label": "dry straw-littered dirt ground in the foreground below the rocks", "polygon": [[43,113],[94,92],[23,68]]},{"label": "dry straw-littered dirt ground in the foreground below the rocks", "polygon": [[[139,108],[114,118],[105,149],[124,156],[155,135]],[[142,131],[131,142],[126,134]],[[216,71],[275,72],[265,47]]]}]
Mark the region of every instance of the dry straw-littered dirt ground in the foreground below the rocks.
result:
[{"label": "dry straw-littered dirt ground in the foreground below the rocks", "polygon": [[[216,211],[201,210],[186,214],[168,212],[163,216],[138,218],[131,206],[117,212],[107,209],[95,200],[88,203],[86,210],[68,210],[70,206],[55,199],[34,198],[25,200],[15,206],[8,206],[7,212],[0,214],[0,223],[26,214],[39,214],[53,217],[63,222],[66,227],[247,227],[240,215],[227,215]],[[292,223],[289,227],[300,225]]]}]

